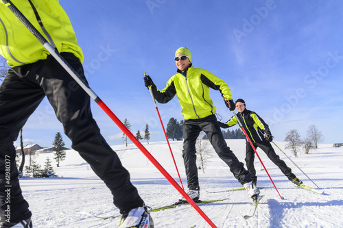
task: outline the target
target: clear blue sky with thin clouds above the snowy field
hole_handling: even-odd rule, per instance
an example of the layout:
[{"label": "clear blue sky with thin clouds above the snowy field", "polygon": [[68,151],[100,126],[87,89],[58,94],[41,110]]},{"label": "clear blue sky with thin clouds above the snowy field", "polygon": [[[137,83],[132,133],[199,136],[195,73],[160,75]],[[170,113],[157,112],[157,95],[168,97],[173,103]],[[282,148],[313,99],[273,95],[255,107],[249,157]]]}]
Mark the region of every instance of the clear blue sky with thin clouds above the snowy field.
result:
[{"label": "clear blue sky with thin clouds above the snowy field", "polygon": [[[86,77],[95,93],[132,132],[150,126],[152,141],[165,140],[146,71],[158,89],[176,73],[178,47],[193,66],[224,79],[233,99],[244,99],[270,125],[274,140],[310,125],[324,143],[343,142],[342,1],[81,1],[60,0],[84,51]],[[222,121],[232,116],[218,91],[211,97]],[[165,126],[182,120],[177,97],[158,104]],[[109,144],[122,132],[92,101]],[[237,112],[237,111],[236,111]],[[63,132],[45,99],[23,129],[25,143],[51,147]],[[67,147],[70,140],[64,136]]]}]

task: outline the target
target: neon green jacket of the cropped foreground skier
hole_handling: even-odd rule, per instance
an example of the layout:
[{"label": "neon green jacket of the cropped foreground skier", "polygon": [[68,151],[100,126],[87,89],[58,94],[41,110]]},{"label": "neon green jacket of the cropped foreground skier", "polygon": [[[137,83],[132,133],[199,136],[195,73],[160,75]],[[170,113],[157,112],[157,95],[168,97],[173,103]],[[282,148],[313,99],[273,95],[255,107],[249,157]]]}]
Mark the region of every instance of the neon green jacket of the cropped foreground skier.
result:
[{"label": "neon green jacket of the cropped foreground skier", "polygon": [[[49,52],[10,9],[0,2],[0,55],[8,60],[10,66],[45,60]],[[12,0],[12,3],[59,52],[73,53],[83,62],[82,49],[76,42],[69,17],[58,0]]]}]

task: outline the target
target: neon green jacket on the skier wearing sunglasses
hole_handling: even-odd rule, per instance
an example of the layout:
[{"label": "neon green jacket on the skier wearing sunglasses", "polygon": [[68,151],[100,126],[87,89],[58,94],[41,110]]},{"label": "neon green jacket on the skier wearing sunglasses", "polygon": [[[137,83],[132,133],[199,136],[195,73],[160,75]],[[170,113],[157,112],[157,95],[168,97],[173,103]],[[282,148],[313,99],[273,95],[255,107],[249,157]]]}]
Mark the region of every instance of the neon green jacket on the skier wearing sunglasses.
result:
[{"label": "neon green jacket on the skier wearing sunglasses", "polygon": [[225,81],[202,68],[190,66],[187,77],[177,73],[167,81],[167,86],[159,91],[152,86],[154,98],[158,103],[167,103],[175,94],[182,107],[185,120],[199,119],[215,114],[217,108],[209,96],[210,88],[220,90],[222,97],[231,100],[230,88]]}]

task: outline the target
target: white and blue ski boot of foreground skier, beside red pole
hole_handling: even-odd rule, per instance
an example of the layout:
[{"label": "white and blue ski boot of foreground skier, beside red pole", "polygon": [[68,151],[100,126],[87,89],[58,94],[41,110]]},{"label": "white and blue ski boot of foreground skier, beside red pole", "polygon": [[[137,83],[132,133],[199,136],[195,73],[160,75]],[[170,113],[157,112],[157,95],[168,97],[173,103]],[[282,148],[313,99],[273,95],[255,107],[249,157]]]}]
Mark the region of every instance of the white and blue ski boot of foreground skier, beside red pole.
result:
[{"label": "white and blue ski boot of foreground skier, beside red pole", "polygon": [[147,207],[137,207],[121,216],[118,228],[146,227],[154,228],[154,221],[147,211]]}]

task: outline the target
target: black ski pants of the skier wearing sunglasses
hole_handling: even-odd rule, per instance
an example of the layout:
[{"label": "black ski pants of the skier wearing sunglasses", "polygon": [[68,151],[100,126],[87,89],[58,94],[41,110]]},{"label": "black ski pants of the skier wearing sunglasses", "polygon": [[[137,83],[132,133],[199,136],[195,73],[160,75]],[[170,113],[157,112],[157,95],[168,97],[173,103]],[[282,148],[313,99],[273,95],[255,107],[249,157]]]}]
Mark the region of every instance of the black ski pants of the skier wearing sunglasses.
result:
[{"label": "black ski pants of the skier wearing sunglasses", "polygon": [[215,115],[207,116],[197,120],[186,120],[183,126],[183,151],[182,157],[185,163],[188,188],[199,190],[198,168],[196,166],[196,139],[201,131],[204,131],[213,149],[219,157],[228,165],[231,173],[241,183],[251,181],[251,175],[239,162],[236,155],[227,146],[220,125]]}]

